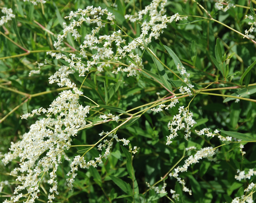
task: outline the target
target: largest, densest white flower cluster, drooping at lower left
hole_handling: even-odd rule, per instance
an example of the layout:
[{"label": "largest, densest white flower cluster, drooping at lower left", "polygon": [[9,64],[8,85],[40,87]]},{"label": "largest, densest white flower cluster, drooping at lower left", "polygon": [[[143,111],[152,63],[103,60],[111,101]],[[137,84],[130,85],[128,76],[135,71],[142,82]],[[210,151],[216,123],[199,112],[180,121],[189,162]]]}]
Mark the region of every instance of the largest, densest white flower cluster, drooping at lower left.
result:
[{"label": "largest, densest white flower cluster, drooping at lower left", "polygon": [[[27,119],[34,114],[40,115],[42,112],[47,118],[36,121],[30,126],[28,133],[23,135],[21,141],[12,143],[10,152],[4,155],[2,160],[4,164],[11,162],[17,158],[20,159],[20,167],[12,170],[11,175],[16,177],[16,181],[20,182],[14,194],[18,194],[14,198],[26,197],[28,202],[34,202],[38,198],[38,184],[41,181],[41,174],[52,170],[50,174],[49,184],[51,195],[49,194],[49,202],[54,199],[57,192],[57,181],[55,180],[56,171],[61,156],[69,160],[65,154],[65,150],[70,148],[71,136],[76,136],[79,129],[86,125],[85,117],[90,111],[90,106],[82,106],[78,104],[80,92],[70,81],[66,81],[73,87],[75,93],[71,90],[63,91],[56,98],[50,107],[46,110],[39,108],[31,113],[25,114],[22,118]],[[67,84],[66,84],[67,85]],[[68,86],[68,85],[67,85]],[[55,115],[55,118],[51,118]],[[46,152],[46,153],[45,153]],[[45,154],[43,157],[42,155]],[[28,195],[22,195],[22,190],[27,189]],[[12,202],[7,201],[6,202]]]}]

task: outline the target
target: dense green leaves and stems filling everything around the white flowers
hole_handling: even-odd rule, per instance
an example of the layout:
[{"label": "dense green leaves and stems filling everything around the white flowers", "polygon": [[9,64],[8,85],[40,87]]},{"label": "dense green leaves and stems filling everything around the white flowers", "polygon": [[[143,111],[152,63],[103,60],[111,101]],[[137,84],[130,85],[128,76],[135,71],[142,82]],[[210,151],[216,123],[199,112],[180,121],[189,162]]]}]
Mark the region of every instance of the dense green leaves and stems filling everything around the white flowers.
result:
[{"label": "dense green leaves and stems filling everything around the white flowers", "polygon": [[[86,59],[80,53],[80,45],[83,45],[85,36],[90,34],[96,25],[83,22],[76,28],[81,35],[78,40],[68,34],[63,40],[65,43],[60,46],[66,48],[56,50],[54,41],[57,41],[58,34],[63,34],[62,23],[65,21],[69,25],[73,21],[64,17],[68,16],[70,11],[91,5],[107,8],[115,15],[115,24],[106,24],[97,36],[111,35],[121,29],[127,45],[140,37],[141,25],[144,21],[149,21],[150,17],[146,14],[142,20],[131,22],[124,16],[137,16],[150,2],[125,2],[113,1],[115,6],[107,0],[56,0],[33,5],[19,0],[0,0],[0,9],[12,8],[15,15],[15,18],[0,26],[1,159],[6,153],[12,153],[13,150],[9,149],[11,142],[24,140],[23,134],[32,131],[30,126],[37,120],[47,118],[50,114],[51,119],[62,120],[61,112],[71,112],[70,107],[57,113],[41,113],[31,116],[32,118],[28,116],[27,120],[20,119],[23,114],[40,107],[47,110],[62,91],[73,90],[73,94],[76,94],[74,85],[72,89],[66,84],[63,87],[58,86],[56,82],[49,84],[48,78],[64,65],[70,68],[69,70],[74,70],[75,73],[68,75],[68,78],[83,92],[79,95],[78,102],[83,107],[90,106],[90,113],[87,117],[84,114],[83,121],[86,121],[86,125],[76,128],[78,132],[72,136],[72,142],[67,145],[69,147],[67,150],[63,149],[70,160],[62,155],[60,162],[58,161],[55,180],[58,182],[59,194],[54,195],[53,202],[231,203],[255,200],[255,186],[252,190],[244,192],[249,184],[255,183],[256,177],[255,41],[244,37],[244,31],[250,29],[249,21],[256,21],[253,9],[256,4],[250,5],[249,1],[240,0],[236,2],[235,8],[223,12],[218,10],[215,7],[216,2],[212,1],[168,0],[164,6],[167,17],[179,13],[181,18],[187,16],[187,19],[167,23],[167,27],[163,29],[163,33],[159,32],[160,36],[156,40],[154,37],[151,42],[145,42],[143,39],[140,46],[144,46],[144,49],[136,47],[131,52],[134,58],[129,56],[128,52],[122,59],[113,57],[111,61],[106,57],[100,58],[101,62],[110,66],[103,66],[103,71],[100,72],[97,64],[92,65],[84,76],[81,76],[81,72],[70,66],[70,60],[73,59],[69,54],[82,57],[85,64],[87,60],[92,61],[92,55],[97,54],[97,50],[86,48]],[[0,15],[4,16],[3,13]],[[93,19],[92,15],[87,14]],[[252,15],[254,20],[245,18],[245,15]],[[104,22],[108,21],[103,15],[102,19]],[[253,33],[255,32],[251,34]],[[111,43],[109,46],[115,55],[118,53],[118,45],[113,41]],[[124,47],[124,44],[121,47]],[[62,53],[64,56],[52,57],[46,53],[48,51]],[[179,70],[178,64],[181,67]],[[120,66],[123,66],[124,70],[125,65],[132,67],[134,74],[127,76],[131,72],[113,72]],[[182,65],[190,74],[189,78],[187,73],[181,73]],[[40,72],[34,74],[32,70],[38,69]],[[188,82],[184,82],[185,78],[188,78]],[[189,84],[193,86],[192,96],[189,96],[187,91],[180,93],[180,87]],[[156,112],[160,104],[163,103],[166,107],[173,102],[174,95],[179,98],[176,106],[158,109]],[[68,100],[70,101],[71,99]],[[168,122],[172,123],[173,117],[179,114],[180,106],[184,106],[184,109],[188,107],[189,112],[193,112],[196,124],[190,125],[191,129],[188,131],[191,131],[191,135],[188,140],[184,139],[185,129],[180,129],[177,131],[179,136],[174,137],[168,145],[166,142],[171,125],[168,125]],[[151,110],[153,108],[155,112]],[[99,118],[100,115],[108,113],[118,115],[118,122],[111,116],[105,118],[106,122]],[[57,124],[47,124],[46,127],[54,131],[54,125],[56,127]],[[59,130],[64,132],[65,127],[63,125]],[[209,129],[202,130],[204,128]],[[200,130],[204,134],[197,132]],[[98,141],[102,138],[99,134],[102,131],[106,134],[117,134],[120,140],[113,140],[108,159],[102,159],[103,163],[97,164],[97,167],[91,164],[89,169],[80,168],[78,164],[74,186],[69,190],[66,179],[70,178],[67,174],[74,157],[84,156],[88,162],[99,157],[99,154],[104,155],[106,149],[97,149]],[[212,136],[213,134],[215,136]],[[46,143],[50,138],[49,134],[49,137],[42,137],[42,141]],[[129,144],[125,142],[127,140]],[[103,144],[103,141],[101,143]],[[132,153],[135,146],[139,149]],[[192,146],[195,148],[186,149]],[[36,147],[38,146],[35,144]],[[213,156],[202,155],[197,159],[198,163],[191,163],[187,171],[179,172],[179,178],[184,180],[188,190],[191,190],[190,195],[190,192],[182,190],[184,188],[179,180],[169,174],[178,166],[182,167],[191,155],[195,157],[197,151],[207,147],[215,150]],[[24,152],[25,148],[20,147],[20,150]],[[47,156],[51,150],[45,150],[38,160]],[[20,163],[28,161],[28,157],[22,161],[21,159],[16,157],[6,165],[0,161],[0,182],[9,181],[8,184],[0,185],[1,201],[10,200],[15,187],[20,184],[16,177],[10,176],[10,172],[15,167],[20,167]],[[36,165],[37,162],[31,166],[32,171]],[[44,168],[42,165],[40,167]],[[245,174],[248,174],[249,169],[254,171],[250,179],[248,176],[242,177],[237,171],[245,171]],[[52,194],[49,192],[52,185],[47,183],[52,170],[50,167],[45,173],[41,171],[42,180],[38,182],[40,192],[37,193],[36,202],[47,202],[48,195]],[[19,175],[26,176],[27,173],[20,171]],[[238,177],[242,178],[239,180]],[[162,187],[164,188],[161,191]],[[22,191],[24,196],[17,202],[33,199],[27,189],[26,187]],[[176,191],[173,194],[178,194],[179,198],[175,198],[170,191]],[[236,197],[240,200],[234,201]]]}]

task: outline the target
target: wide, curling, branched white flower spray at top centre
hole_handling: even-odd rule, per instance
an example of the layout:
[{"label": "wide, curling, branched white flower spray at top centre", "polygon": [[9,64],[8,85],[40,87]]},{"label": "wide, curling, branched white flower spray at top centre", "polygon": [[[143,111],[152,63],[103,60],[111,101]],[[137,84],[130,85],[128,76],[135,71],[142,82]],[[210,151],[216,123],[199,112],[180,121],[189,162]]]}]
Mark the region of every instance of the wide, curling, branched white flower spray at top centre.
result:
[{"label": "wide, curling, branched white flower spray at top centre", "polygon": [[[83,60],[67,59],[65,55],[58,54],[63,57],[68,63],[71,64],[70,68],[74,68],[79,72],[79,76],[84,76],[86,71],[90,69],[96,68],[99,72],[103,71],[103,68],[107,68],[110,64],[118,62],[119,59],[124,58],[126,55],[132,58],[133,62],[129,61],[128,65],[125,69],[122,67],[114,70],[113,73],[117,74],[119,71],[128,72],[127,76],[136,76],[139,74],[140,70],[143,68],[142,61],[139,55],[132,54],[132,50],[137,47],[143,47],[143,39],[146,44],[151,42],[151,38],[154,37],[157,39],[160,33],[163,33],[163,29],[167,27],[166,23],[171,23],[172,21],[182,20],[186,17],[180,17],[179,14],[175,14],[171,17],[167,17],[164,15],[166,10],[164,9],[164,5],[166,4],[166,0],[153,0],[152,3],[147,6],[144,10],[139,11],[138,17],[136,15],[126,15],[125,18],[129,19],[132,22],[141,21],[144,15],[149,14],[150,20],[149,22],[143,22],[141,25],[141,35],[140,37],[132,40],[127,44],[124,37],[127,37],[126,33],[122,33],[121,30],[113,31],[110,35],[100,35],[100,29],[105,27],[105,25],[115,24],[115,16],[108,12],[107,9],[102,9],[101,7],[93,7],[87,6],[86,9],[78,9],[77,11],[71,11],[70,14],[66,17],[73,21],[66,25],[63,24],[63,34],[58,35],[57,41],[54,42],[54,46],[57,49],[60,49],[60,45],[64,38],[67,38],[68,33],[71,33],[75,40],[78,40],[81,35],[77,31],[76,27],[79,27],[83,24],[83,22],[88,24],[95,24],[96,26],[92,29],[90,34],[87,34],[84,38],[83,44],[80,47],[80,55],[86,59],[85,62]],[[158,11],[158,7],[160,7],[160,11]],[[88,14],[88,17],[85,17]],[[78,18],[75,20],[74,18]],[[150,33],[148,33],[150,32]],[[149,35],[147,37],[147,35]],[[115,49],[113,49],[113,46]],[[92,54],[91,59],[88,60],[89,50],[96,50],[95,54]],[[116,50],[116,53],[114,53]],[[51,53],[50,53],[51,54]],[[139,71],[139,72],[138,72]]]}]

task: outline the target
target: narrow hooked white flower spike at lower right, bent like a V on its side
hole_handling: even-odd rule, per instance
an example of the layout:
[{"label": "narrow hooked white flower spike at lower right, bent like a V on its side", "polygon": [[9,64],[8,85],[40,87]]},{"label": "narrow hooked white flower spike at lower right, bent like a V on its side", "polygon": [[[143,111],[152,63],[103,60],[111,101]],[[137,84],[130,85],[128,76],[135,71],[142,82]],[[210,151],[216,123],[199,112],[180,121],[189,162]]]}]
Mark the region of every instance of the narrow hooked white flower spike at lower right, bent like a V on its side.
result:
[{"label": "narrow hooked white flower spike at lower right, bent like a V on its side", "polygon": [[199,163],[199,160],[202,158],[208,158],[211,157],[215,154],[215,149],[212,147],[205,147],[203,149],[200,149],[196,152],[196,154],[193,156],[189,156],[188,159],[185,160],[185,163],[183,164],[182,167],[178,166],[177,168],[174,169],[174,172],[171,172],[169,174],[170,177],[174,177],[178,180],[178,182],[183,186],[182,190],[184,192],[188,192],[190,195],[192,195],[192,191],[189,190],[185,186],[185,180],[179,178],[179,172],[184,172],[188,170],[188,167],[193,164],[193,163]]}]

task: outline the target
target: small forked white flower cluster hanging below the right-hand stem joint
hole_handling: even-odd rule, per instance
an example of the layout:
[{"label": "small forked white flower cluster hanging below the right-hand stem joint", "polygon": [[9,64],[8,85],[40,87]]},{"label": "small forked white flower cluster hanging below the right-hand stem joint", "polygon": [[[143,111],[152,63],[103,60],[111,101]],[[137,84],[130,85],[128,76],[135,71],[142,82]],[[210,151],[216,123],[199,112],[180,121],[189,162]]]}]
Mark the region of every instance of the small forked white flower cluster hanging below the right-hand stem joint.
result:
[{"label": "small forked white flower cluster hanging below the right-hand stem joint", "polygon": [[[196,121],[192,118],[193,113],[188,111],[188,107],[184,109],[184,106],[180,106],[179,114],[173,116],[172,122],[169,121],[167,127],[171,131],[171,134],[167,137],[166,144],[169,145],[172,143],[172,139],[178,136],[177,131],[185,128],[185,139],[188,140],[191,134],[191,127],[196,124]],[[185,121],[185,122],[184,122]],[[175,127],[176,126],[176,127]]]}]

